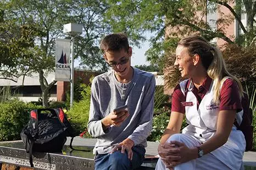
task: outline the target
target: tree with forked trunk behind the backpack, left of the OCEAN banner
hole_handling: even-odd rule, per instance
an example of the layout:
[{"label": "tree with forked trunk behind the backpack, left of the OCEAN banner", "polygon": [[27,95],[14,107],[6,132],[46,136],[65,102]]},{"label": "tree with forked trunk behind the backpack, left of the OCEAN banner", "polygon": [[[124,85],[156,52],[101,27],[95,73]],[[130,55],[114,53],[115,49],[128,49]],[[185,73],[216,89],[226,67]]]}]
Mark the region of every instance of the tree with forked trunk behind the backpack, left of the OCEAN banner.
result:
[{"label": "tree with forked trunk behind the backpack, left of the OCEAN banner", "polygon": [[[54,39],[62,30],[67,14],[64,1],[8,1],[4,3],[5,17],[14,20],[15,25],[35,25],[34,47],[27,50],[30,58],[23,60],[23,67],[39,75],[43,106],[48,106],[49,90],[57,81],[46,80],[47,72],[54,70]],[[60,10],[62,9],[62,10]],[[18,56],[20,58],[20,56]],[[20,71],[20,70],[18,70]]]}]

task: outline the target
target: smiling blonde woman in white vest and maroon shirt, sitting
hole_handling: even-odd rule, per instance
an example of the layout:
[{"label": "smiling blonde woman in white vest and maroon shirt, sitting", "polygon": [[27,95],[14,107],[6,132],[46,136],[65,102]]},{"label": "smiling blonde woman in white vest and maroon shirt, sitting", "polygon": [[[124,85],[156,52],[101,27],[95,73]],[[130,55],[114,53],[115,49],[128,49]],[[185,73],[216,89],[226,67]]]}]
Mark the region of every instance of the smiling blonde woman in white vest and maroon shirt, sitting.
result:
[{"label": "smiling blonde woman in white vest and maroon shirt, sitting", "polygon": [[[220,50],[189,36],[179,42],[174,65],[188,79],[172,94],[155,169],[243,168],[246,141],[234,124],[242,121],[242,86],[227,71]],[[188,126],[180,133],[185,116]]]}]

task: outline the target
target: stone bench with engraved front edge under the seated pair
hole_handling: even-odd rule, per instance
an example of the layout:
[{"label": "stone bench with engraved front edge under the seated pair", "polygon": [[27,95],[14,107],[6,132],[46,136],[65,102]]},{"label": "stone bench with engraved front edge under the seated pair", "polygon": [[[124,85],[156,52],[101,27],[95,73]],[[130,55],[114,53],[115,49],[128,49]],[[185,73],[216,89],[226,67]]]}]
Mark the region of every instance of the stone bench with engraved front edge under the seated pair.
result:
[{"label": "stone bench with engraved front edge under the seated pair", "polygon": [[[94,160],[92,152],[88,152],[88,155],[77,156],[79,154],[86,154],[86,152],[78,152],[75,154],[73,150],[68,149],[70,138],[66,141],[64,145],[64,154],[48,154],[48,153],[38,153],[35,155],[33,161],[38,162],[37,166],[51,167],[56,166],[55,169],[94,169]],[[76,137],[73,141],[73,146],[77,149],[79,147],[86,146],[91,149],[96,143],[96,139],[84,139]],[[12,146],[6,147],[4,144],[12,143]],[[19,144],[19,146],[17,145]],[[7,145],[8,146],[8,145]],[[0,142],[0,167],[2,169],[12,170],[12,165],[20,165],[20,169],[25,170],[24,168],[29,168],[29,159],[28,154],[26,154],[23,149],[23,143],[21,141],[10,141],[10,142]],[[158,158],[155,158],[154,155],[157,155],[158,143],[148,141],[148,147],[146,148],[146,156],[143,164],[140,168],[136,170],[146,170],[154,169]],[[77,160],[78,159],[78,160]],[[1,164],[2,163],[2,164]],[[248,151],[244,153],[243,157],[244,168],[246,170],[256,170],[256,152]],[[18,166],[16,166],[18,167]],[[0,168],[1,169],[1,168]],[[16,168],[17,169],[17,168]],[[18,168],[19,169],[19,168]],[[49,169],[49,168],[48,168]],[[51,168],[50,168],[51,169]]]}]

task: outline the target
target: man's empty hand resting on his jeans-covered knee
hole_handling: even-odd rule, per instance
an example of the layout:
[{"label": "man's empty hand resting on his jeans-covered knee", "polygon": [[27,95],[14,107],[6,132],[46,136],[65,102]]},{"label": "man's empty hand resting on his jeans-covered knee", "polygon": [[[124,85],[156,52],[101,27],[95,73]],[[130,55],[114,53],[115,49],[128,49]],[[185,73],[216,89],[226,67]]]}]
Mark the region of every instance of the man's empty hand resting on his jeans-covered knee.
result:
[{"label": "man's empty hand resting on his jeans-covered knee", "polygon": [[125,150],[127,151],[127,156],[129,160],[132,160],[133,152],[131,150],[132,146],[134,145],[134,142],[127,138],[118,145],[115,145],[115,147],[112,149],[110,154],[114,153],[115,151],[121,150],[122,154],[125,154]]}]

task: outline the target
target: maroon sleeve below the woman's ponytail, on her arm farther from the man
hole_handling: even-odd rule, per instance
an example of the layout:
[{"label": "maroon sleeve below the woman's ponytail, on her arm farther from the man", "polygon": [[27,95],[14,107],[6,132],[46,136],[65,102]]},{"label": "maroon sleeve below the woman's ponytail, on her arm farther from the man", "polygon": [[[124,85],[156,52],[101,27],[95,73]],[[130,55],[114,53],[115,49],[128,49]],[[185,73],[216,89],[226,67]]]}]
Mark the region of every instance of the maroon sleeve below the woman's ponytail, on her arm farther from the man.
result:
[{"label": "maroon sleeve below the woman's ponytail, on her arm farther from the man", "polygon": [[237,83],[231,78],[224,81],[220,90],[220,110],[242,110]]}]

